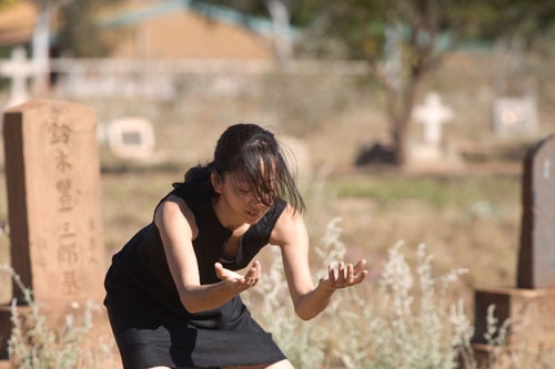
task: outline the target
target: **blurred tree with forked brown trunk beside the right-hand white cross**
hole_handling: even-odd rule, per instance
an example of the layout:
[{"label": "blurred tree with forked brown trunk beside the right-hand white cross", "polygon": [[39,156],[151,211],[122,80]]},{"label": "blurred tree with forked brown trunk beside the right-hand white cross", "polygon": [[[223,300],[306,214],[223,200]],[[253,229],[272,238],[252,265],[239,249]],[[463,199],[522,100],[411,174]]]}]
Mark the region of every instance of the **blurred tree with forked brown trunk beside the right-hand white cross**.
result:
[{"label": "blurred tree with forked brown trunk beside the right-hand white cross", "polygon": [[[523,35],[553,24],[548,0],[327,1],[312,23],[316,40],[332,38],[349,58],[367,60],[386,90],[396,164],[407,160],[407,133],[418,89],[462,40]],[[316,19],[316,18],[315,18]],[[324,25],[322,25],[324,24]]]}]

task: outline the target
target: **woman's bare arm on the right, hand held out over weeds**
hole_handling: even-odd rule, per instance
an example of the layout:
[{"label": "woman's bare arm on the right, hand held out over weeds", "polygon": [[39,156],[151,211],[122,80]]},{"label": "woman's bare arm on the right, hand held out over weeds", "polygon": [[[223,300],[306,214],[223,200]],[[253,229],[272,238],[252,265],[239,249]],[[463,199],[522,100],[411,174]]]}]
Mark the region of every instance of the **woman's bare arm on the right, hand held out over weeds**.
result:
[{"label": "woman's bare arm on the right, hand held out over weeds", "polygon": [[366,277],[366,262],[355,266],[340,263],[337,270],[329,266],[316,287],[309,267],[309,236],[301,214],[286,208],[275,224],[270,242],[282,250],[285,278],[295,311],[301,319],[309,320],[322,312],[337,288],[360,284]]}]

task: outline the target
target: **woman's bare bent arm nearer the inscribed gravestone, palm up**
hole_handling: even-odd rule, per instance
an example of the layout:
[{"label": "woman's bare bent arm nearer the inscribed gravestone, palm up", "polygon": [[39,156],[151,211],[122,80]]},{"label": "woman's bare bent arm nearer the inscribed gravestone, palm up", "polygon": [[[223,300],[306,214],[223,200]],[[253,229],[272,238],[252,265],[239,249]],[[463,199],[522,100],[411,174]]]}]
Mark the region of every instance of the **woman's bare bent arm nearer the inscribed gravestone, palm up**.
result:
[{"label": "woman's bare bent arm nearer the inscribed gravestone, palm up", "polygon": [[254,262],[243,277],[214,265],[221,283],[201,285],[199,265],[192,240],[198,229],[194,215],[179,197],[170,196],[157,209],[154,223],[160,230],[168,265],[181,303],[190,312],[209,310],[223,305],[233,296],[252,287],[260,278],[260,263]]}]

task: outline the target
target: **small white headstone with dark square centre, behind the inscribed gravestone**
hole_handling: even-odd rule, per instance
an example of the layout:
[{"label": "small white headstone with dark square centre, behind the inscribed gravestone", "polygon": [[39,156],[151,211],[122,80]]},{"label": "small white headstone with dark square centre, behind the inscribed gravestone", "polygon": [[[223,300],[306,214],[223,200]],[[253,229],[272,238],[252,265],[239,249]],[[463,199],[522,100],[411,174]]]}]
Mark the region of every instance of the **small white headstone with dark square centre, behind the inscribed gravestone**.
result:
[{"label": "small white headstone with dark square centre, behind the inscribed gravestone", "polygon": [[108,125],[108,144],[123,158],[149,158],[154,152],[154,129],[143,117],[122,117]]}]

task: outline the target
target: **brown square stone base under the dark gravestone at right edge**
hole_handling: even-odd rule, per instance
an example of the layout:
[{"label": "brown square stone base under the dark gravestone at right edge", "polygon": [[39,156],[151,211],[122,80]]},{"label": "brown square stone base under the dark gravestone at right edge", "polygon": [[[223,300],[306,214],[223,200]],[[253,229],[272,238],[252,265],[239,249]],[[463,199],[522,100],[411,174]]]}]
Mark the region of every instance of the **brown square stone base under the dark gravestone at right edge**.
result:
[{"label": "brown square stone base under the dark gravestone at right edge", "polygon": [[555,348],[555,289],[478,288],[474,293],[474,344],[487,344],[487,308],[495,306],[497,327],[508,319],[508,346]]}]

